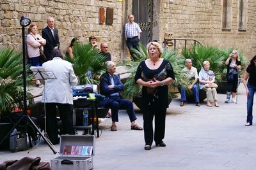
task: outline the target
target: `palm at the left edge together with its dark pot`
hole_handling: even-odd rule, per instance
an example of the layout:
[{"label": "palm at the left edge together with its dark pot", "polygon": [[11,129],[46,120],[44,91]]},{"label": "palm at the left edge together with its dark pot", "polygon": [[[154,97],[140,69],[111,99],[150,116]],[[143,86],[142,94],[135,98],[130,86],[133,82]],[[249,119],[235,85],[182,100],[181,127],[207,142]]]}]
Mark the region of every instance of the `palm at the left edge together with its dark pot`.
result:
[{"label": "palm at the left edge together with its dark pot", "polygon": [[[28,66],[26,67],[28,69]],[[15,117],[15,110],[22,111],[23,101],[23,79],[22,79],[22,55],[13,48],[0,49],[0,136],[1,139],[12,129],[10,118]],[[30,80],[29,76],[27,80]],[[29,103],[33,98],[27,92]],[[1,140],[0,140],[1,141]],[[1,143],[0,148],[8,149],[8,139]]]}]

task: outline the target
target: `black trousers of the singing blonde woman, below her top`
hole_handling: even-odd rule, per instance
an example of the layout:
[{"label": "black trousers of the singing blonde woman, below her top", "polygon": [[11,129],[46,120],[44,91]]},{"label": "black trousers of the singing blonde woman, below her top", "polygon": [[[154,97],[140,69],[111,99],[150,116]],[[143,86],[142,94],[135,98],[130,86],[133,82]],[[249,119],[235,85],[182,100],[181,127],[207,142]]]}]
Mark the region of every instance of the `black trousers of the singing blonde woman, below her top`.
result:
[{"label": "black trousers of the singing blonde woman, below her top", "polygon": [[[153,118],[155,116],[155,133],[153,131]],[[163,143],[165,132],[165,110],[146,108],[143,110],[143,128],[145,145],[152,145],[153,138],[156,144]]]}]

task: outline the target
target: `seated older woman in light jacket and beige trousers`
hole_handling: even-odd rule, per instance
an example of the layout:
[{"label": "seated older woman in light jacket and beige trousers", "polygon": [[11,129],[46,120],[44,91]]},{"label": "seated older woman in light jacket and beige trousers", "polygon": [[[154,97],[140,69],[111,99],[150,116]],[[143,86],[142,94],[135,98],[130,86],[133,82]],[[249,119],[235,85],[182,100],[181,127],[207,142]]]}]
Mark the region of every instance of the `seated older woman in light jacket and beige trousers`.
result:
[{"label": "seated older woman in light jacket and beige trousers", "polygon": [[219,107],[217,102],[217,90],[216,87],[211,87],[215,81],[215,74],[210,70],[210,62],[205,60],[203,67],[198,75],[200,89],[206,92],[207,106],[212,107],[211,101],[214,102],[216,107]]}]

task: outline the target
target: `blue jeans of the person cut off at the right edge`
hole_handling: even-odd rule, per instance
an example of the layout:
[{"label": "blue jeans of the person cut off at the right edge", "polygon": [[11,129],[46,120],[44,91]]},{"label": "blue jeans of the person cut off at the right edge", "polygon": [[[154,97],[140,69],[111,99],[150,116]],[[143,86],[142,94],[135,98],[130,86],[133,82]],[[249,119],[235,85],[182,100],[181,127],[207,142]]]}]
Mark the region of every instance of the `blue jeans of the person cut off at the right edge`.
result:
[{"label": "blue jeans of the person cut off at the right edge", "polygon": [[253,85],[247,84],[249,90],[249,96],[247,97],[247,120],[246,122],[252,123],[252,106],[253,106],[253,97],[256,92],[256,87]]}]

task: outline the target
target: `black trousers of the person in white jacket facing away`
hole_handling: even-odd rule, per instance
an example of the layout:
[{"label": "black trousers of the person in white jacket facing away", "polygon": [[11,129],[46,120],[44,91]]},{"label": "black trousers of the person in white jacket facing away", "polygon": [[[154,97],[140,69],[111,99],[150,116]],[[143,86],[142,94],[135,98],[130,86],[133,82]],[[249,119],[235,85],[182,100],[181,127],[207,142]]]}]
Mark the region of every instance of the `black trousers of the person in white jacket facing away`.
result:
[{"label": "black trousers of the person in white jacket facing away", "polygon": [[63,134],[75,134],[73,128],[72,104],[45,103],[47,134],[52,144],[58,143],[58,125],[56,119],[56,106],[60,111],[63,125]]}]

